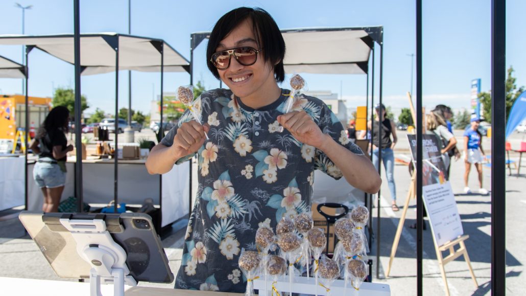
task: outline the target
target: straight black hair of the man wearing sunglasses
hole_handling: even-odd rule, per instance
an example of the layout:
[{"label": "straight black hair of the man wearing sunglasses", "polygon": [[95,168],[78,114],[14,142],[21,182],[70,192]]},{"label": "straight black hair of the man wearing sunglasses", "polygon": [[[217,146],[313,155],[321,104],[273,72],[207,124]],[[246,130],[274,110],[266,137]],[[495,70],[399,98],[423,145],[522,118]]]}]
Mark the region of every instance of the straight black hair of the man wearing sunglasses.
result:
[{"label": "straight black hair of the man wearing sunglasses", "polygon": [[283,59],[285,58],[285,40],[279,31],[279,27],[264,9],[255,7],[239,7],[226,13],[219,18],[214,29],[210,33],[208,46],[206,48],[206,63],[208,69],[217,79],[220,79],[214,63],[210,61],[212,55],[216,52],[217,46],[233,29],[240,23],[250,19],[252,21],[252,30],[256,37],[258,50],[262,50],[263,57],[267,63],[274,65],[274,77],[276,82],[285,80],[285,69]]}]

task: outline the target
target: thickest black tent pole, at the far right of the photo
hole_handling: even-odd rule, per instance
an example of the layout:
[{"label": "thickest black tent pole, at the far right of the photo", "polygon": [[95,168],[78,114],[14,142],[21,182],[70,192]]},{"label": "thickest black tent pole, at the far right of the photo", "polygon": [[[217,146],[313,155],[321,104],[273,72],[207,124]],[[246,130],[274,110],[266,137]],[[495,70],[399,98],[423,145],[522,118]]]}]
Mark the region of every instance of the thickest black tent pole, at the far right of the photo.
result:
[{"label": "thickest black tent pole, at the far right of the photo", "polygon": [[506,293],[506,2],[491,1],[491,295]]}]

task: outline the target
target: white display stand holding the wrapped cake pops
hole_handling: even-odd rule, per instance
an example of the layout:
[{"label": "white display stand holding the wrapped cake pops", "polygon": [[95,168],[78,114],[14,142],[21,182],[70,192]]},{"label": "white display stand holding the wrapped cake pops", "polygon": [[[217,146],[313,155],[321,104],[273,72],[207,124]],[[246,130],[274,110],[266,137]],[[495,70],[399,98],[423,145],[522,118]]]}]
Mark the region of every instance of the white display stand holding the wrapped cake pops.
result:
[{"label": "white display stand holding the wrapped cake pops", "polygon": [[[391,295],[391,289],[388,284],[381,283],[368,283],[364,282],[360,286],[360,290],[355,290],[352,288],[350,283],[347,283],[347,290],[345,290],[345,281],[336,280],[330,285],[330,291],[321,286],[316,287],[316,282],[314,278],[307,277],[294,277],[292,278],[294,286],[292,288],[292,293],[302,293],[302,294],[315,294],[315,291],[318,291],[318,295],[354,295],[354,296],[389,296]],[[319,279],[318,279],[319,282]],[[256,279],[254,280],[254,289],[259,290],[259,295],[272,295],[272,284],[273,280],[267,279],[267,284],[265,285],[265,280]],[[289,277],[278,277],[276,283],[274,283],[276,290],[281,292],[289,292]],[[347,292],[347,293],[346,293]]]}]

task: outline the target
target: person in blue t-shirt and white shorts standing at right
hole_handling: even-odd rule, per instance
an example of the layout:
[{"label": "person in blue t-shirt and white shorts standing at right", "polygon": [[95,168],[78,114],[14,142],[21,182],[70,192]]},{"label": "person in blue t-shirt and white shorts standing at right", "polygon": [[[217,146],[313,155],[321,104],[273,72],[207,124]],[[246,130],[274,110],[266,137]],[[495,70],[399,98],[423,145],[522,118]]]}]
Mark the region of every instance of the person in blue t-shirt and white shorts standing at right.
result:
[{"label": "person in blue t-shirt and white shorts standing at right", "polygon": [[471,170],[471,164],[475,164],[477,172],[479,173],[479,193],[482,195],[488,194],[488,190],[482,187],[482,161],[485,159],[484,151],[482,150],[482,135],[477,131],[479,128],[479,117],[471,119],[471,126],[464,132],[464,163],[466,164],[466,172],[464,173],[464,193],[471,193],[468,186],[468,177]]}]

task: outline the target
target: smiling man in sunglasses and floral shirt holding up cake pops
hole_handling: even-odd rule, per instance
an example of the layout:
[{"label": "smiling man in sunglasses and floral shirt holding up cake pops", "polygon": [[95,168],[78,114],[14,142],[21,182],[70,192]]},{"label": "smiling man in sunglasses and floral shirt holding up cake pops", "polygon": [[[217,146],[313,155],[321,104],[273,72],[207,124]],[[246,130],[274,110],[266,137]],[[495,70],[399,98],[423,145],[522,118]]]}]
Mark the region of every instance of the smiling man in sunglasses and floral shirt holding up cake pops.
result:
[{"label": "smiling man in sunglasses and floral shirt holding up cake pops", "polygon": [[285,42],[266,11],[241,7],[222,16],[207,60],[230,90],[201,94],[196,105],[204,125],[185,113],[147,159],[148,172],[162,174],[198,155],[178,289],[244,292],[241,249],[256,250],[258,227],[310,211],[315,169],[379,190],[375,168],[325,104],[300,96],[284,114],[290,91],[277,84],[285,78],[284,56]]}]

